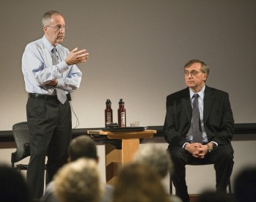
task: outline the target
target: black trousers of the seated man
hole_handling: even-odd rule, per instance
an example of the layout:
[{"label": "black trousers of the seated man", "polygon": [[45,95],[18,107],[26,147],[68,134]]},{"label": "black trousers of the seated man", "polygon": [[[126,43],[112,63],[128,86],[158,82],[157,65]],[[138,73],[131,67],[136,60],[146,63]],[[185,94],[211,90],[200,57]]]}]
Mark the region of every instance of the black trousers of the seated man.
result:
[{"label": "black trousers of the seated man", "polygon": [[[189,201],[188,187],[186,186],[186,165],[213,164],[216,171],[216,191],[227,192],[227,185],[233,171],[233,147],[231,144],[217,146],[204,159],[197,159],[185,149],[178,146],[169,146],[169,153],[175,167],[172,182],[175,186],[176,195],[183,201]],[[207,179],[207,176],[202,176]]]}]

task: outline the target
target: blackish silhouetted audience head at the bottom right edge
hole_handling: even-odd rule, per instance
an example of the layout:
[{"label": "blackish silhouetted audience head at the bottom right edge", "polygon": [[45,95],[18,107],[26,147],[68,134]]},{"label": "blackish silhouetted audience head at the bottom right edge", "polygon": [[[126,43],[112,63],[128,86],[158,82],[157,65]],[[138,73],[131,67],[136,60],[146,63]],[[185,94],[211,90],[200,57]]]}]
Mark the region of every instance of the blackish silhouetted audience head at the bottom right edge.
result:
[{"label": "blackish silhouetted audience head at the bottom right edge", "polygon": [[234,182],[235,196],[240,201],[255,201],[256,200],[256,166],[244,168]]}]

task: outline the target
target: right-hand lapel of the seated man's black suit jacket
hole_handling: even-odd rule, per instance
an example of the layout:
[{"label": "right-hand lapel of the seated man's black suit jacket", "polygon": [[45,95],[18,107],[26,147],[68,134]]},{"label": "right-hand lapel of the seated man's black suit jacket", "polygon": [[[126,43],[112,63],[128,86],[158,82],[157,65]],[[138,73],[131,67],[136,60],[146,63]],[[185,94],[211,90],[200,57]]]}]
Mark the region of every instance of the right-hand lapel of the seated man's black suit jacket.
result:
[{"label": "right-hand lapel of the seated man's black suit jacket", "polygon": [[211,106],[213,105],[213,102],[215,100],[215,96],[213,94],[213,91],[210,87],[205,86],[205,97],[204,97],[204,114],[203,114],[203,121],[204,124],[206,123],[209,114],[211,112]]}]

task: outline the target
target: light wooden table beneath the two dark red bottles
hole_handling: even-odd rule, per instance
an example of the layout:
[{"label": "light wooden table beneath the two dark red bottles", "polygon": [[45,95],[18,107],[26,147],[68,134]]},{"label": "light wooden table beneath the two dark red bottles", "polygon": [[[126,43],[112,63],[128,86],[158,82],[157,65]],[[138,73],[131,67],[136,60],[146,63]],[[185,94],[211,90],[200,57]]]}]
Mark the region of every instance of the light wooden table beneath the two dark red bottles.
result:
[{"label": "light wooden table beneath the two dark red bottles", "polygon": [[[92,138],[106,139],[106,183],[114,184],[117,174],[122,165],[130,162],[137,150],[139,150],[140,138],[152,138],[156,130],[143,131],[122,131],[122,132],[105,132],[102,130],[88,130],[87,133]],[[120,146],[114,146],[108,140],[116,140]],[[104,143],[104,141],[103,141]]]}]

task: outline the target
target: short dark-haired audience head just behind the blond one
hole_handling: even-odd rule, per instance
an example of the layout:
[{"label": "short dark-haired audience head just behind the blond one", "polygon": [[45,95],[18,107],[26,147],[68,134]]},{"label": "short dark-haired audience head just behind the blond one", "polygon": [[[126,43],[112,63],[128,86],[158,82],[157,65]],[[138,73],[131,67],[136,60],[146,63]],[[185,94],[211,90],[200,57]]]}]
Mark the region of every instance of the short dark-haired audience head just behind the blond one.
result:
[{"label": "short dark-haired audience head just behind the blond one", "polygon": [[81,135],[74,138],[68,146],[70,160],[78,160],[80,157],[87,157],[98,162],[97,148],[95,142],[89,136]]}]

